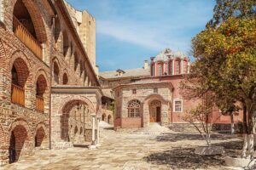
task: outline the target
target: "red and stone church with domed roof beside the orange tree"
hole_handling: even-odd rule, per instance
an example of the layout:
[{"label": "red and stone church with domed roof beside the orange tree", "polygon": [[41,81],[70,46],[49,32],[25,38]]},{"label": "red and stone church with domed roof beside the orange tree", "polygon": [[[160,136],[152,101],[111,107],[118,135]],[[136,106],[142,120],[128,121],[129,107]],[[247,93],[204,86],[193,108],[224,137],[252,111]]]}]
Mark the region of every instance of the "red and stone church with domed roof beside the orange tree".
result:
[{"label": "red and stone church with domed roof beside the orange tree", "polygon": [[[147,127],[150,122],[162,126],[185,123],[183,116],[201,99],[187,100],[180,94],[179,83],[189,73],[189,58],[182,52],[166,48],[151,57],[150,74],[139,81],[121,83],[113,88],[115,99],[115,127]],[[216,123],[229,123],[229,116],[221,116],[218,108],[212,111]],[[241,115],[235,122],[241,122]]]}]

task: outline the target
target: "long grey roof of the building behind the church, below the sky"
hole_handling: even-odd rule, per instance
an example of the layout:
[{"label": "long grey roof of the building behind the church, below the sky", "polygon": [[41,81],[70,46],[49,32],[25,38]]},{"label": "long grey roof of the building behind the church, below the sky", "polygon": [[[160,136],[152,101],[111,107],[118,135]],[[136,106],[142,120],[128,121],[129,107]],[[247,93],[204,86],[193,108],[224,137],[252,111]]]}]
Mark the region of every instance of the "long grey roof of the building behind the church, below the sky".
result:
[{"label": "long grey roof of the building behind the church, below the sky", "polygon": [[[118,70],[119,71],[119,70]],[[124,78],[124,77],[147,77],[150,76],[150,68],[143,69],[131,69],[131,70],[124,70],[122,75],[119,75],[117,71],[103,71],[100,72],[100,77],[103,78]]]}]

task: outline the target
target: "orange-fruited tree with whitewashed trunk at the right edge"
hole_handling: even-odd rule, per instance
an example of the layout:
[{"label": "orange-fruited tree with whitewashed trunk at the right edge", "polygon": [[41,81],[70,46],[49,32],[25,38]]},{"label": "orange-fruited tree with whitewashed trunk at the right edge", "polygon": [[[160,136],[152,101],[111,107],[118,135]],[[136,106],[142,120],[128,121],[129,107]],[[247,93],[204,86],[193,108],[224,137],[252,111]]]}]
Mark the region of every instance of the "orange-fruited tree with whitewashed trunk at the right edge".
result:
[{"label": "orange-fruited tree with whitewashed trunk at the right edge", "polygon": [[[253,156],[253,111],[256,101],[256,19],[230,18],[207,27],[192,39],[195,62],[183,89],[200,97],[211,91],[217,99],[239,102],[244,113],[244,133]],[[232,103],[232,102],[231,102]],[[228,110],[227,106],[223,108]],[[244,150],[247,149],[245,135]]]}]

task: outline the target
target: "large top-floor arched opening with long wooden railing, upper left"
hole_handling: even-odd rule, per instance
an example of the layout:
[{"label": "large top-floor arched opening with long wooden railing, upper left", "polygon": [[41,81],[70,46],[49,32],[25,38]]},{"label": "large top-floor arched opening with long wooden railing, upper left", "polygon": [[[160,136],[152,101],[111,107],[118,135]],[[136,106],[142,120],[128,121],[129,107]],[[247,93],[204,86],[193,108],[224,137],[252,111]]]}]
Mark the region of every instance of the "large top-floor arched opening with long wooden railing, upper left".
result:
[{"label": "large top-floor arched opening with long wooden railing, upper left", "polygon": [[39,59],[43,59],[43,47],[47,33],[44,20],[34,1],[17,0],[13,11],[13,31]]}]

